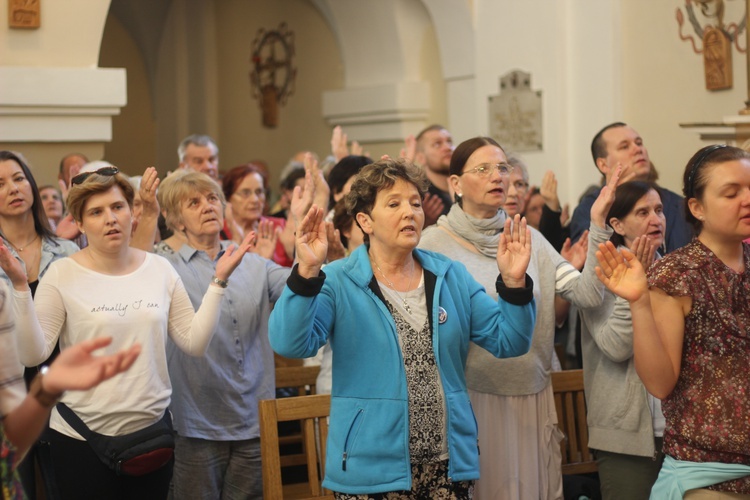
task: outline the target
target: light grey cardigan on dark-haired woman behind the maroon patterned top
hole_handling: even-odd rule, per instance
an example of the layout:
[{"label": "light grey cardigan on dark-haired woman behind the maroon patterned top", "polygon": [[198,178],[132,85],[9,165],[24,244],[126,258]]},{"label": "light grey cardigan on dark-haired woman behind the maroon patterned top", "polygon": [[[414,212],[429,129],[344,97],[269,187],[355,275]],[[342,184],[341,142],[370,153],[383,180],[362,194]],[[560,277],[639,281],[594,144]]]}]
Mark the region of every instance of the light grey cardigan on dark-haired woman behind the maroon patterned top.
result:
[{"label": "light grey cardigan on dark-haired woman behind the maroon patterned top", "polygon": [[646,388],[633,362],[630,305],[609,291],[581,313],[581,350],[589,447],[650,457],[654,426]]}]

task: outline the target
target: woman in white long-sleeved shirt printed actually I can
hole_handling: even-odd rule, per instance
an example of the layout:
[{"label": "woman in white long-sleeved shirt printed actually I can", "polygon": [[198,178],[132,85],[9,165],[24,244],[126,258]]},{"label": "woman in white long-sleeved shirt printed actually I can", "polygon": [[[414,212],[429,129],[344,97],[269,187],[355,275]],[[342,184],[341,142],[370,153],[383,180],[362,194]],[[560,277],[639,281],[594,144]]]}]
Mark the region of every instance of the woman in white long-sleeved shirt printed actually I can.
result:
[{"label": "woman in white long-sleeved shirt printed actually I can", "polygon": [[[127,374],[64,402],[90,430],[121,436],[164,418],[171,383],[167,373],[169,336],[184,351],[202,355],[216,328],[225,282],[249,238],[219,259],[216,276],[196,312],[174,268],[164,258],[130,246],[133,188],[116,168],[74,179],[68,207],[89,245],[52,264],[34,302],[20,264],[0,247],[2,264],[14,287],[14,312],[21,362],[33,366],[60,341],[113,337],[107,352],[142,346]],[[151,187],[155,187],[151,184]],[[252,235],[251,235],[252,236]],[[141,476],[119,476],[99,461],[89,443],[54,410],[51,453],[62,498],[166,498],[172,462]]]}]

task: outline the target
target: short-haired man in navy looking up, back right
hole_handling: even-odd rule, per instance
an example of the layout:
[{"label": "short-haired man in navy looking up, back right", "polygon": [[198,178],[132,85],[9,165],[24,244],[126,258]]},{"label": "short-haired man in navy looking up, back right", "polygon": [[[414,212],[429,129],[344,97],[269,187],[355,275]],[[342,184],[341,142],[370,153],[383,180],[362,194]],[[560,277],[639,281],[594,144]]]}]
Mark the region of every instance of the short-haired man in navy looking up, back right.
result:
[{"label": "short-haired man in navy looking up, back right", "polygon": [[[618,165],[622,166],[619,184],[634,180],[651,180],[653,165],[643,138],[623,122],[610,123],[594,136],[594,140],[591,141],[591,155],[605,182]],[[601,188],[584,196],[573,212],[570,222],[570,238],[573,242],[589,228],[591,205],[600,191]],[[667,220],[664,248],[660,251],[668,253],[688,244],[693,237],[693,230],[685,221],[685,201],[682,196],[662,187],[659,187],[658,191]]]}]

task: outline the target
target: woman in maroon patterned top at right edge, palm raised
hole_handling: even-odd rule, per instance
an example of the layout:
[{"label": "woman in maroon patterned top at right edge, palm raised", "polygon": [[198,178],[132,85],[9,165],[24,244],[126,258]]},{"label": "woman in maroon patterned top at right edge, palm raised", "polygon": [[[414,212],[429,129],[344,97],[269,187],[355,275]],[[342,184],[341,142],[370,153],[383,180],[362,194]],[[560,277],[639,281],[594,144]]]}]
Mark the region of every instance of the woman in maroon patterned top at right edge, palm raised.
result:
[{"label": "woman in maroon patterned top at right edge, palm raised", "polygon": [[750,153],[699,150],[683,193],[689,244],[648,273],[631,252],[601,245],[597,274],[630,302],[635,368],[662,400],[666,458],[651,498],[748,498]]}]

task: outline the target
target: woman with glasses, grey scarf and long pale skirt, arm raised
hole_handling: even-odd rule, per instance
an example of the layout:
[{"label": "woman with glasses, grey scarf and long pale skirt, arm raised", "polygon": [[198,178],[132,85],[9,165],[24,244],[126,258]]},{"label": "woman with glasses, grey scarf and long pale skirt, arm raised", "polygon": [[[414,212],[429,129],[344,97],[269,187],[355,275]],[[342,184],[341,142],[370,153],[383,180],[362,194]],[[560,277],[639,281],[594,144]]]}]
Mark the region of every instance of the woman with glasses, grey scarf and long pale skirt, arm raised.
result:
[{"label": "woman with glasses, grey scarf and long pale skirt, arm raised", "polygon": [[[450,182],[456,203],[428,228],[420,248],[462,262],[493,294],[495,252],[508,214],[502,210],[512,166],[502,147],[489,137],[475,137],[453,152]],[[613,201],[613,183],[592,208],[587,260],[596,244],[607,241],[605,217]],[[479,426],[480,478],[474,498],[504,500],[562,498],[557,415],[550,370],[554,353],[555,296],[579,307],[601,304],[603,287],[591,266],[579,273],[535,229],[531,262],[537,317],[531,350],[517,358],[496,359],[471,345],[466,383]],[[493,294],[494,295],[494,294]]]}]

